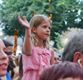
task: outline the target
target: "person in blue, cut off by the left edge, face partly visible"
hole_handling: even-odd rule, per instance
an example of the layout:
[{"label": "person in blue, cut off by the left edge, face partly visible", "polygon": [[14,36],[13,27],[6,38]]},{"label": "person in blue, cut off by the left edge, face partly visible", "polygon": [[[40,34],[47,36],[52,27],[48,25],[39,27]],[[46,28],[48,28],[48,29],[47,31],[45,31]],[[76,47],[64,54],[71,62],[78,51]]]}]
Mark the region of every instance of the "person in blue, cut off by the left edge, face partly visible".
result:
[{"label": "person in blue, cut off by the left edge, face partly visible", "polygon": [[4,51],[5,48],[4,42],[0,39],[0,80],[11,80],[10,74],[7,72],[9,59]]}]

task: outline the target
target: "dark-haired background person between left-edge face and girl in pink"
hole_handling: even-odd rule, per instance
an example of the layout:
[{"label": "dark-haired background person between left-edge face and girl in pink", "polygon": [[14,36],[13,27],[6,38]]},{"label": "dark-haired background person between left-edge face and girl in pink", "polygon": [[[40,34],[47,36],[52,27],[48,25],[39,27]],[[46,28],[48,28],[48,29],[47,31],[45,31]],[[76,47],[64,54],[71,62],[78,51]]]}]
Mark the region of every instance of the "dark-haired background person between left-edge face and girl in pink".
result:
[{"label": "dark-haired background person between left-edge face and girl in pink", "polygon": [[9,64],[7,71],[11,74],[12,80],[18,80],[19,78],[19,67],[17,65],[17,58],[13,53],[13,44],[7,40],[3,40],[6,48],[4,49],[5,53],[9,58]]}]

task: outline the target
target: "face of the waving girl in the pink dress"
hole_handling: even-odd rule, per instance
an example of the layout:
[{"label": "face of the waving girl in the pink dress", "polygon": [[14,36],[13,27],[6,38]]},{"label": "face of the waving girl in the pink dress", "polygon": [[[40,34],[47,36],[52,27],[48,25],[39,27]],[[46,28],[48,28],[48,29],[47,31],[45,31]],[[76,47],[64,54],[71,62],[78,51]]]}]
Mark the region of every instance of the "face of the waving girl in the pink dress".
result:
[{"label": "face of the waving girl in the pink dress", "polygon": [[47,40],[50,36],[51,25],[49,20],[43,21],[37,28],[34,29],[36,37],[41,40]]}]

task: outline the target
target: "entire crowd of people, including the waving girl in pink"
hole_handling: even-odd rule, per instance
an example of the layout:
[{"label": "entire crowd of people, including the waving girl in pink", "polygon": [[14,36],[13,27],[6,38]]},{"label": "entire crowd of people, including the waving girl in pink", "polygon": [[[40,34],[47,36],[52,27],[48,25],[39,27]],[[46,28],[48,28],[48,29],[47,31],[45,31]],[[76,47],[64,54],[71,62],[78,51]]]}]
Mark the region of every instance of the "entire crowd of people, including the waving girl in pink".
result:
[{"label": "entire crowd of people, including the waving girl in pink", "polygon": [[30,22],[18,16],[18,23],[25,28],[22,54],[15,57],[13,45],[0,40],[0,80],[83,80],[82,31],[70,39],[59,59],[49,48],[52,21],[46,15],[34,15]]}]

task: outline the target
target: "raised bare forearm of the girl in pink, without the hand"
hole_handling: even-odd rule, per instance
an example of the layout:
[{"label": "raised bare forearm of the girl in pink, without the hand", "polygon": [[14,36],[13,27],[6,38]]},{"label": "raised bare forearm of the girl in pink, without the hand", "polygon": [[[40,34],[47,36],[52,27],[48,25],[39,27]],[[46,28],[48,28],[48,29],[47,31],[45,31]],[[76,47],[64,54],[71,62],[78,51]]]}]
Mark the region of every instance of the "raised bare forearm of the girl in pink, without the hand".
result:
[{"label": "raised bare forearm of the girl in pink, without the hand", "polygon": [[31,55],[32,53],[31,29],[26,29],[25,31],[23,53],[27,56]]}]

